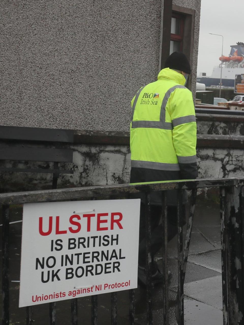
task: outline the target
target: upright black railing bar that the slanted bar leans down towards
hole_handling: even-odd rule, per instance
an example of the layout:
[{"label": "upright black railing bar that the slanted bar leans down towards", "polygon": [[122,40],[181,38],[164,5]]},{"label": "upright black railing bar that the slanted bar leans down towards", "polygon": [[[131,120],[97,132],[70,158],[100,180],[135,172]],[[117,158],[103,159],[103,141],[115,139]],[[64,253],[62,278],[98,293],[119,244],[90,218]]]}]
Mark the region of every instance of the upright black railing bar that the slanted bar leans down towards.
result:
[{"label": "upright black railing bar that the slanted bar leans down towards", "polygon": [[182,228],[182,190],[178,190],[177,204],[178,224],[178,324],[184,324],[184,290],[183,290],[183,228]]}]

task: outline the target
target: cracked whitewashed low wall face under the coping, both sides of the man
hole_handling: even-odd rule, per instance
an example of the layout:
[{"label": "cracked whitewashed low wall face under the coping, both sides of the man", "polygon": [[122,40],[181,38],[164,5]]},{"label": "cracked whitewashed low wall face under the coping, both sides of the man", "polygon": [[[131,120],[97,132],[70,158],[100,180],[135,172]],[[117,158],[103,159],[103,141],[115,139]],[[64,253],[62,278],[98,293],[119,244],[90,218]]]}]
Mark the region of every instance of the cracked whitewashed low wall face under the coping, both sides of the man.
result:
[{"label": "cracked whitewashed low wall face under the coping, both sides of the man", "polygon": [[[5,144],[6,145],[6,144]],[[11,146],[11,144],[8,144]],[[22,144],[19,144],[22,146]],[[31,146],[31,144],[27,144]],[[15,144],[16,146],[16,144]],[[50,146],[51,147],[51,146]],[[128,145],[76,144],[72,169],[74,175],[62,174],[58,188],[129,183],[130,149]],[[238,177],[244,174],[244,148],[197,148],[199,178]],[[0,166],[10,167],[6,162]],[[38,163],[45,168],[47,163]],[[15,162],[16,168],[29,168],[33,163]],[[71,164],[61,167],[69,169]],[[50,163],[52,167],[52,163]],[[0,173],[0,191],[36,190],[52,187],[52,174]]]}]

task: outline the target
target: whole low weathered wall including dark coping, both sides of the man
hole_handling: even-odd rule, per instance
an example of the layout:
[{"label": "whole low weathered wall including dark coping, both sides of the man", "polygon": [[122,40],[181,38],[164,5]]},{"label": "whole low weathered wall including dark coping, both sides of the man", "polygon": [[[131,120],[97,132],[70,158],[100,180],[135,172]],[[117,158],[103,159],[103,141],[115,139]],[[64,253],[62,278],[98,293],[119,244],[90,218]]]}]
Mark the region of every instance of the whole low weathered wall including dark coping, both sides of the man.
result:
[{"label": "whole low weathered wall including dark coping, both sides of the man", "polygon": [[[200,178],[237,177],[244,173],[244,117],[197,113],[197,161]],[[0,146],[36,146],[0,141]],[[129,132],[75,131],[74,143],[42,143],[41,147],[73,149],[73,175],[61,175],[58,187],[128,183],[130,179]],[[1,162],[0,167],[52,168],[52,163]],[[71,164],[61,167],[70,169]],[[0,173],[1,191],[51,188],[52,175]]]}]

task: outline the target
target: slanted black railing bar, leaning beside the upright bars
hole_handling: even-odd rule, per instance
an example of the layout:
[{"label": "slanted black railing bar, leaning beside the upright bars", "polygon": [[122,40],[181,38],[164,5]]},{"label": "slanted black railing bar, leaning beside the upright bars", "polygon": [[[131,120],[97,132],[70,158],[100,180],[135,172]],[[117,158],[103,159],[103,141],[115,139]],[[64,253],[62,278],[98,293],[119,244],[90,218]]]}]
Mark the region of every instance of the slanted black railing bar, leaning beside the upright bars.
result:
[{"label": "slanted black railing bar, leaning beside the upright bars", "polygon": [[190,241],[191,241],[193,217],[194,217],[195,206],[196,206],[196,197],[197,197],[197,189],[193,188],[192,194],[191,194],[189,217],[188,217],[188,222],[187,222],[186,238],[185,238],[184,251],[183,251],[183,263],[184,263],[184,265],[183,265],[183,284],[185,281],[186,265],[187,265],[187,259],[188,259]]}]

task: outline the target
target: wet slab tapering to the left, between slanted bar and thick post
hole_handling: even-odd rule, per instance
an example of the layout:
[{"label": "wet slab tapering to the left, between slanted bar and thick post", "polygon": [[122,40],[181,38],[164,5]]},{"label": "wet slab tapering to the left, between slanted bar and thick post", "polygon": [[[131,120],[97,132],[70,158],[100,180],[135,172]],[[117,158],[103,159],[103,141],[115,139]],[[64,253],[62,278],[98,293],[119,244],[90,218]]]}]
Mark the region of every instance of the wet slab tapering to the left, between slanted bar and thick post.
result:
[{"label": "wet slab tapering to the left, between slanted bar and thick post", "polygon": [[189,254],[188,261],[222,273],[221,249],[214,249],[197,254]]}]

